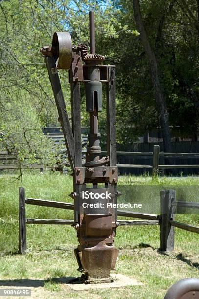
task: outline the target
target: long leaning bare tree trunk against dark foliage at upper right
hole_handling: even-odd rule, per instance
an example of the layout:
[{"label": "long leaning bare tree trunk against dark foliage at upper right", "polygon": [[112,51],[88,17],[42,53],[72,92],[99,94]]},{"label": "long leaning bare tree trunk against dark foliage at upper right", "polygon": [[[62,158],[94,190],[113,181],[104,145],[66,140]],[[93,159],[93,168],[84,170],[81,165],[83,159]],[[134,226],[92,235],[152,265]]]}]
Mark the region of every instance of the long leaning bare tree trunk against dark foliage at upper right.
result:
[{"label": "long leaning bare tree trunk against dark foliage at upper right", "polygon": [[160,122],[161,122],[161,130],[163,135],[164,151],[171,152],[169,115],[168,115],[166,102],[165,102],[164,87],[163,87],[163,83],[161,82],[161,72],[160,72],[157,58],[155,57],[155,53],[149,43],[148,35],[144,27],[144,23],[140,11],[139,0],[133,0],[133,10],[134,10],[136,26],[140,33],[141,42],[150,64],[151,78],[154,87],[154,96],[160,112]]}]

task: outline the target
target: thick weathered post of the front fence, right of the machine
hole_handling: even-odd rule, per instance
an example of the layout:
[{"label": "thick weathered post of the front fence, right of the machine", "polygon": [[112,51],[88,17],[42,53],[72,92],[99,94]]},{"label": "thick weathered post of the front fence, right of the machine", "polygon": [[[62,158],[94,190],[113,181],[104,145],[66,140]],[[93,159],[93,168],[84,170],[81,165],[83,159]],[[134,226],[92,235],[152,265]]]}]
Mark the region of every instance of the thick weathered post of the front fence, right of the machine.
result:
[{"label": "thick weathered post of the front fence, right of the machine", "polygon": [[174,207],[172,202],[176,200],[176,190],[163,190],[160,192],[161,222],[160,222],[160,250],[172,251],[174,249],[174,226],[170,220],[174,220]]}]

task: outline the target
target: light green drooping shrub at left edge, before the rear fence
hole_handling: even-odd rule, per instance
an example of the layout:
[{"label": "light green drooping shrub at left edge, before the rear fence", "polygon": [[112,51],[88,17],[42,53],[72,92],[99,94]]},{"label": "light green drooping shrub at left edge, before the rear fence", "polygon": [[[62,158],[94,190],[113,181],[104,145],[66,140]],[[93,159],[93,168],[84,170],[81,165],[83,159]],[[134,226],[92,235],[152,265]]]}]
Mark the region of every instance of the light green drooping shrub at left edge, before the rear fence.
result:
[{"label": "light green drooping shrub at left edge, before the rear fence", "polygon": [[6,105],[7,113],[0,120],[1,149],[13,155],[19,167],[29,164],[52,165],[56,163],[58,149],[43,134],[36,110],[33,110],[29,101],[26,98],[23,102],[16,101],[12,106],[10,103]]}]

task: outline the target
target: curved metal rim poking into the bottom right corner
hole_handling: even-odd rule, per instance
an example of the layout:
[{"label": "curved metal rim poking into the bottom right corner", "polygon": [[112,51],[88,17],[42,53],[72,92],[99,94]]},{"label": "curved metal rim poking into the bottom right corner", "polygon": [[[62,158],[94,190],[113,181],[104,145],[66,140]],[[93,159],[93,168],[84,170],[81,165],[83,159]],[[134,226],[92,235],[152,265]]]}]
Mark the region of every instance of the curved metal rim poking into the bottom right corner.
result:
[{"label": "curved metal rim poking into the bottom right corner", "polygon": [[199,279],[185,278],[168,290],[164,299],[199,299]]}]

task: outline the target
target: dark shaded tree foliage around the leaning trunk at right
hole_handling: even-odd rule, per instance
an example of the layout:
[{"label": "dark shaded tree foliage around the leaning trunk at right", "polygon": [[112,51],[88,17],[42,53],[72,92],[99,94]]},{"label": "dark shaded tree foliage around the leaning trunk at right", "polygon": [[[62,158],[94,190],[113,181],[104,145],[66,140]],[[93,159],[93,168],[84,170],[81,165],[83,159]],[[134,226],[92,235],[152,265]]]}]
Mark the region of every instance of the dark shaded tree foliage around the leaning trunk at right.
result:
[{"label": "dark shaded tree foliage around the leaning trunk at right", "polygon": [[[113,60],[121,99],[118,133],[121,142],[131,142],[160,126],[161,114],[150,76],[152,67],[136,34],[133,1],[114,1],[114,5],[124,29],[110,41],[110,51],[117,53]],[[159,64],[170,125],[179,126],[175,132],[179,136],[193,136],[199,127],[199,2],[143,0],[140,6],[148,41]]]}]

